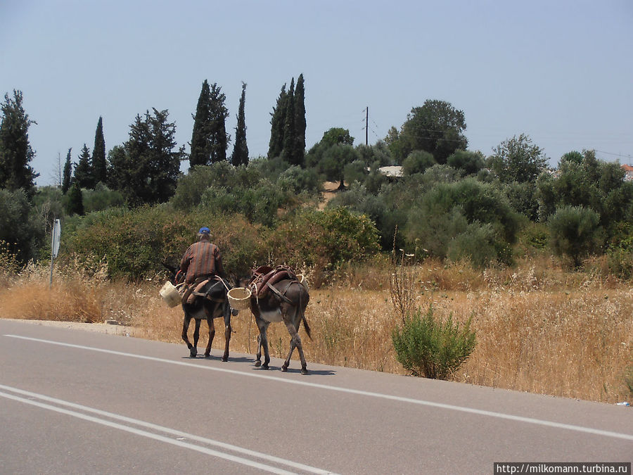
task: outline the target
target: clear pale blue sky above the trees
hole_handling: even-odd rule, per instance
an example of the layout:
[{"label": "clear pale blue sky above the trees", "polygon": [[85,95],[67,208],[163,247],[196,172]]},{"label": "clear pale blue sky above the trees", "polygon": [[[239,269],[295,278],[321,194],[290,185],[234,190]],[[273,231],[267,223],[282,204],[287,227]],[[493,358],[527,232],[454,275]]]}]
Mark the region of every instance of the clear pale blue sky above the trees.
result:
[{"label": "clear pale blue sky above the trees", "polygon": [[[463,110],[468,148],[486,156],[521,133],[551,165],[568,151],[633,163],[633,2],[0,2],[0,94],[20,89],[40,173],[106,149],[137,114],[168,109],[188,150],[202,82],[226,94],[235,136],[241,83],[250,156],[265,155],[284,83],[305,77],[307,148],[330,127],[369,143],[411,108]],[[233,144],[229,145],[230,154]]]}]

